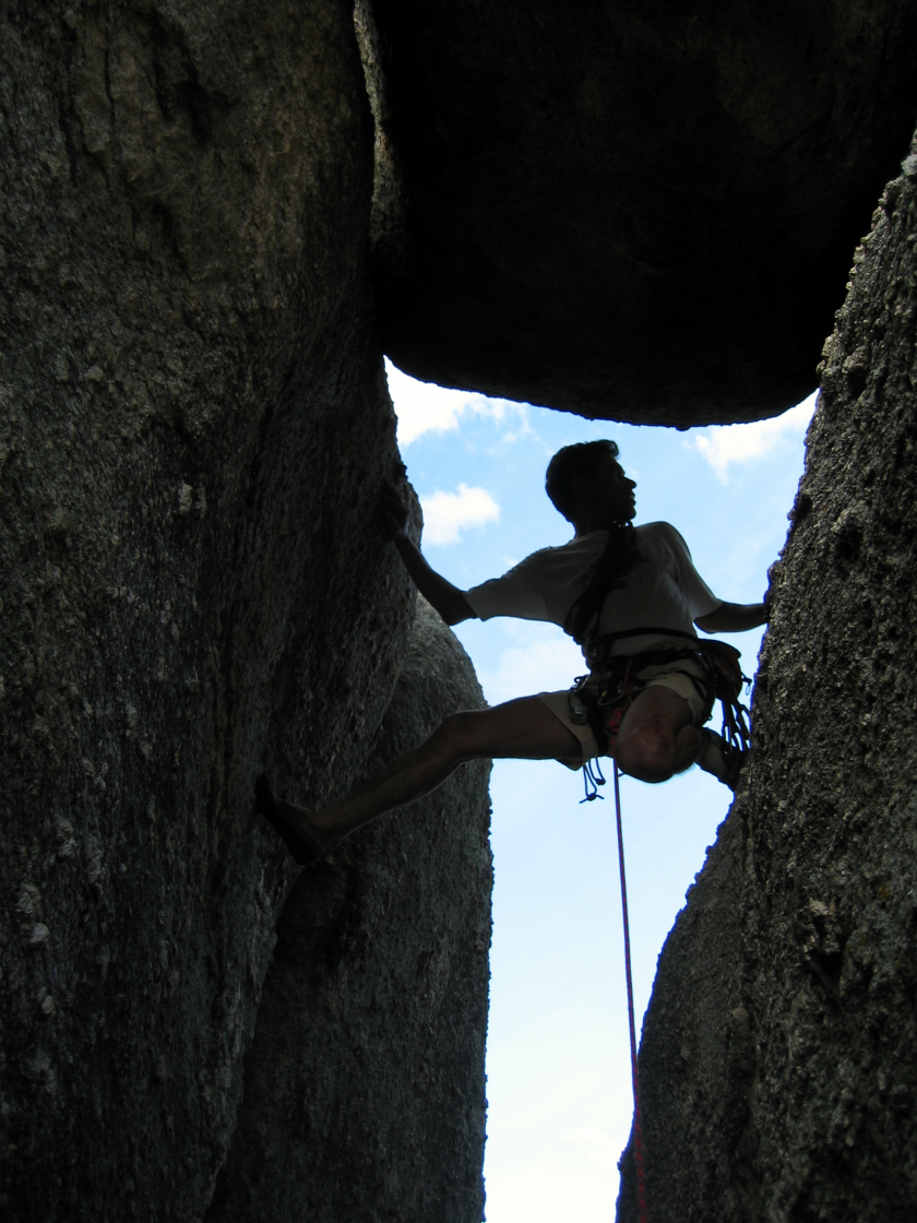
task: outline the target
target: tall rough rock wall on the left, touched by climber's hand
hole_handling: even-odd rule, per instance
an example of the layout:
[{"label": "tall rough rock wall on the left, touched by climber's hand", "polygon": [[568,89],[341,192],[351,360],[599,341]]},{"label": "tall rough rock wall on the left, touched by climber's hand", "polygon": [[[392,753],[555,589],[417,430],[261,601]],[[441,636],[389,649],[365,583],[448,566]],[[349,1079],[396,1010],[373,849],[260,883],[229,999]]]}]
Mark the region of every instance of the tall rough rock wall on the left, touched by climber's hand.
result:
[{"label": "tall rough rock wall on the left, touched by climber's hand", "polygon": [[201,1218],[412,594],[334,0],[0,10],[0,1213]]}]

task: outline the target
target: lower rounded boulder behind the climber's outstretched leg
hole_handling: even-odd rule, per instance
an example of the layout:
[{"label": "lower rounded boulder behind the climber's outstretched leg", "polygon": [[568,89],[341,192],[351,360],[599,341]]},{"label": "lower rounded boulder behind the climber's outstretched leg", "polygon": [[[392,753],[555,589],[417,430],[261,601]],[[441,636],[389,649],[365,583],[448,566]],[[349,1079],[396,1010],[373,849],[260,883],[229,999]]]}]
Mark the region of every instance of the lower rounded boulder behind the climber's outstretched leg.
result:
[{"label": "lower rounded boulder behind the climber's outstretched leg", "polygon": [[[482,704],[418,599],[369,772]],[[483,1217],[489,773],[462,766],[297,879],[209,1223]]]}]

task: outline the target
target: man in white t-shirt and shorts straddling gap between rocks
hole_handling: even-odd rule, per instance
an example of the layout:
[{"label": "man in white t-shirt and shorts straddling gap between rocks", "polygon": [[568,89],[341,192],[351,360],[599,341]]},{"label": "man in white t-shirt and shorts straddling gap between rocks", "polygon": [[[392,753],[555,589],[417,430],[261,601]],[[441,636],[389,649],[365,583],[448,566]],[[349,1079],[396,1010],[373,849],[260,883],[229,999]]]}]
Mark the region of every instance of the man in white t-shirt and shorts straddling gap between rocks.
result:
[{"label": "man in white t-shirt and shorts straddling gap between rocks", "polygon": [[[738,703],[738,654],[704,632],[741,632],[768,619],[765,603],[718,599],[668,522],[633,526],[635,481],[610,440],[564,446],[551,459],[545,490],[573,527],[573,538],[544,548],[503,577],[462,591],[428,565],[407,534],[408,506],[394,484],[384,521],[418,591],[447,625],[507,615],[561,625],[589,668],[573,689],[454,713],[414,751],[368,786],[324,811],[276,800],[267,778],[258,810],[297,862],[322,857],[377,816],[419,799],[466,761],[558,759],[570,768],[613,755],[621,772],[665,781],[699,764],[735,789],[747,728]],[[726,736],[705,729],[723,700]],[[588,794],[588,788],[587,788]]]}]

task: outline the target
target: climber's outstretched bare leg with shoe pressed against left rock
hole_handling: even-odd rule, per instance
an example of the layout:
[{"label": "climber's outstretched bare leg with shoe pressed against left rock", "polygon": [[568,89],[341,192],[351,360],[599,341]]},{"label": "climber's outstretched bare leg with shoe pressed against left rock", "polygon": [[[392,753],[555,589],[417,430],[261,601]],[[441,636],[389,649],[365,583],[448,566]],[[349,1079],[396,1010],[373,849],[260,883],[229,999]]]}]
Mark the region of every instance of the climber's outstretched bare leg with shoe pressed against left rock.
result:
[{"label": "climber's outstretched bare leg with shoe pressed against left rock", "polygon": [[493,709],[454,713],[414,751],[384,769],[369,785],[324,811],[285,805],[296,811],[329,844],[362,828],[384,811],[435,790],[449,774],[472,759],[575,758],[580,742],[537,696],[507,701]]}]

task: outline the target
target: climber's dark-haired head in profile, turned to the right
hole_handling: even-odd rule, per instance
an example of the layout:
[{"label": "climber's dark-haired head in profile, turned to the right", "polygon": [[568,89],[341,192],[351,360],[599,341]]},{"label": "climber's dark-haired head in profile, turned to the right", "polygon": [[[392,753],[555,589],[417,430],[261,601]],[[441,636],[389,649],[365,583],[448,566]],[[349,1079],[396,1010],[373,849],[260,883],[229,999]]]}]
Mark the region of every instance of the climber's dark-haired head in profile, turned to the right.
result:
[{"label": "climber's dark-haired head in profile, turned to the right", "polygon": [[577,534],[630,522],[633,489],[617,462],[617,444],[608,438],[564,446],[548,464],[544,489]]}]

